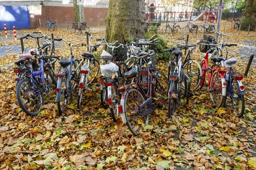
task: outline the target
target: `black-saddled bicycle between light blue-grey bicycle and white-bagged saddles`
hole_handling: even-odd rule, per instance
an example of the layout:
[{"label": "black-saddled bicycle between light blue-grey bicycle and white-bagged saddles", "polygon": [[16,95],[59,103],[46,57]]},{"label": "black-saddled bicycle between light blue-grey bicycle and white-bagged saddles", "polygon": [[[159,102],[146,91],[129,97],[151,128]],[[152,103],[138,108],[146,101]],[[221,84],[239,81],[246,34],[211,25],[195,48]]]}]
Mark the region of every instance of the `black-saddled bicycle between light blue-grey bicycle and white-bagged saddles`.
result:
[{"label": "black-saddled bicycle between light blue-grey bicycle and white-bagged saddles", "polygon": [[[90,36],[90,40],[92,39],[91,34],[89,34],[86,31],[86,34]],[[89,40],[89,43],[90,43]],[[86,45],[87,46],[87,45]],[[96,78],[96,76],[99,73],[99,61],[95,58],[91,52],[97,51],[97,47],[99,45],[92,45],[90,43],[90,51],[88,53],[82,53],[83,59],[80,61],[80,64],[83,64],[81,66],[81,74],[80,80],[79,80],[79,92],[78,92],[78,99],[77,99],[77,108],[80,108],[81,100],[83,96],[83,91],[88,88],[88,85],[90,85],[93,80]],[[88,82],[89,80],[89,82]]]}]

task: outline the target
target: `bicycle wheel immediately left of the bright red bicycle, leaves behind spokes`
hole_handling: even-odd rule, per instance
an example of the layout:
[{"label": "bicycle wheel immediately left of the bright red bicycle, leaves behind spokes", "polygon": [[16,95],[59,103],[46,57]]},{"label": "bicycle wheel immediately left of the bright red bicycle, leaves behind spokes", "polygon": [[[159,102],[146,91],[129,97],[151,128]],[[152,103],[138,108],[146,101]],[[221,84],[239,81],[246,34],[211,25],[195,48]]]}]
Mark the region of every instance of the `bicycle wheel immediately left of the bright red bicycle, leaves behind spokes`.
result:
[{"label": "bicycle wheel immediately left of the bright red bicycle, leaves behind spokes", "polygon": [[190,78],[190,90],[196,91],[201,85],[200,77],[203,75],[201,65],[195,59],[190,59],[183,65],[183,70],[185,74]]}]

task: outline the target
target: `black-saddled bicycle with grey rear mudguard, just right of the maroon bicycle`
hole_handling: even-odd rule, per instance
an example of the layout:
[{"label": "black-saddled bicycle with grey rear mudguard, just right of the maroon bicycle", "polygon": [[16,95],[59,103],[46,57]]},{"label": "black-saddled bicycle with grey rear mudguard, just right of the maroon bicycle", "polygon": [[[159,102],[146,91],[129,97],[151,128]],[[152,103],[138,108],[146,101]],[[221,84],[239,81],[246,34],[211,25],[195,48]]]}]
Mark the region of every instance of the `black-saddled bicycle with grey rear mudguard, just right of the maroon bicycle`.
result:
[{"label": "black-saddled bicycle with grey rear mudguard, just right of the maroon bicycle", "polygon": [[182,51],[181,49],[195,47],[196,45],[182,45],[177,44],[178,48],[171,48],[164,50],[164,52],[172,51],[169,57],[168,77],[170,80],[168,89],[168,117],[171,118],[175,112],[177,105],[181,103],[181,99],[186,98],[186,104],[189,104],[189,97],[193,96],[190,92],[191,82],[189,77],[185,74],[182,65]]}]

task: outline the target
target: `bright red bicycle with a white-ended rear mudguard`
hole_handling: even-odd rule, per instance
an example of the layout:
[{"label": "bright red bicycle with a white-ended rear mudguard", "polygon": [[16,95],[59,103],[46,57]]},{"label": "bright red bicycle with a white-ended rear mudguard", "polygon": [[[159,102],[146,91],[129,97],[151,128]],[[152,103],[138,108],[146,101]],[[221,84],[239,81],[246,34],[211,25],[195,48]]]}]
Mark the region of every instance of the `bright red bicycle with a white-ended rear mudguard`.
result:
[{"label": "bright red bicycle with a white-ended rear mudguard", "polygon": [[[208,45],[212,44],[201,44],[200,45]],[[210,92],[211,100],[214,102],[214,107],[219,108],[223,103],[222,96],[226,96],[226,81],[225,74],[226,70],[224,69],[224,62],[222,57],[211,57],[213,61],[212,68],[208,65],[209,54],[213,51],[218,50],[218,48],[210,48],[201,62],[201,68],[203,71],[202,77],[198,77],[200,83],[200,88],[204,87],[205,78],[207,75],[208,80],[208,91]]]}]

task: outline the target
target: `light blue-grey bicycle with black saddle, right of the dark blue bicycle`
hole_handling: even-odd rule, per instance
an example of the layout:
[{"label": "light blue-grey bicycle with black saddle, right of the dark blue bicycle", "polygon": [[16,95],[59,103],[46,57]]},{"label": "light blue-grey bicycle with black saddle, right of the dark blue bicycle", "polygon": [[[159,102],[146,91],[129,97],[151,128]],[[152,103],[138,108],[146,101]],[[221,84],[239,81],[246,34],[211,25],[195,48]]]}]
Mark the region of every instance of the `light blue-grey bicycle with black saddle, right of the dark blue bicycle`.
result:
[{"label": "light blue-grey bicycle with black saddle, right of the dark blue bicycle", "polygon": [[[81,64],[79,59],[75,59],[73,56],[72,48],[77,45],[86,46],[84,43],[71,44],[63,40],[62,38],[54,38],[55,41],[64,41],[70,46],[70,59],[63,57],[58,61],[61,68],[56,72],[56,77],[58,77],[57,88],[56,88],[56,99],[58,106],[58,113],[64,112],[68,101],[73,102],[73,89],[76,88],[79,82],[79,73],[81,73]],[[84,54],[83,57],[91,57],[92,54]],[[74,68],[73,68],[74,66]],[[75,93],[74,93],[75,94]]]}]

